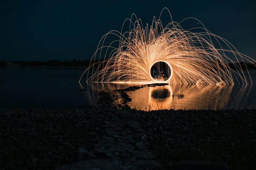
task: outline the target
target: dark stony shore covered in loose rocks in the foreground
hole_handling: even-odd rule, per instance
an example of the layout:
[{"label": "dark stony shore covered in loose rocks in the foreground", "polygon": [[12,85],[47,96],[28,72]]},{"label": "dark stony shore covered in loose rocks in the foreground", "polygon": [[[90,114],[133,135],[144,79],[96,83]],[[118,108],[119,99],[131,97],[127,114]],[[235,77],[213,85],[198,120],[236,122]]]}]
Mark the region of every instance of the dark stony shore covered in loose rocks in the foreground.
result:
[{"label": "dark stony shore covered in loose rocks in the foreground", "polygon": [[255,129],[249,110],[1,110],[0,169],[254,169]]}]

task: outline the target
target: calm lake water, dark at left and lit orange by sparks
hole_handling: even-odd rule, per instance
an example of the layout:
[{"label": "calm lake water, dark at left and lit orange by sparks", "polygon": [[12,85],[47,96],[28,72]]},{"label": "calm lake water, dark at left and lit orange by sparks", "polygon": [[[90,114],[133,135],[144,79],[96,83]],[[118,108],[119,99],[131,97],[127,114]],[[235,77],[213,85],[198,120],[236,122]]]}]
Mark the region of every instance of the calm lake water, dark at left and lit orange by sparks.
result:
[{"label": "calm lake water, dark at left and lit orange by sparks", "polygon": [[[86,83],[84,69],[1,68],[0,108],[81,108],[92,106],[98,92],[123,89],[137,84]],[[153,109],[244,109],[256,103],[256,70],[249,70],[253,84],[230,86],[169,85],[145,87],[127,92],[128,105]],[[247,79],[248,73],[246,74]],[[78,91],[86,89],[86,91]],[[179,98],[176,94],[183,94]],[[114,104],[118,104],[117,101]]]}]

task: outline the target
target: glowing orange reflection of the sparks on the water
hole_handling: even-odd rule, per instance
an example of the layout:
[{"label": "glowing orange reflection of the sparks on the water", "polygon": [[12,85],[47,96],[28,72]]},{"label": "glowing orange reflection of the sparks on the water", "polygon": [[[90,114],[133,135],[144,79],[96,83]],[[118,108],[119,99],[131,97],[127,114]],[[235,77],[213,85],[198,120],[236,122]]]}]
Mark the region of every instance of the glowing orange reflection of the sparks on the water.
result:
[{"label": "glowing orange reflection of the sparks on the water", "polygon": [[[87,84],[87,97],[92,101],[100,90],[112,91],[137,84],[92,83]],[[244,109],[254,101],[248,100],[251,85],[167,85],[144,87],[127,94],[132,98],[127,104],[142,110],[152,109]],[[83,88],[83,87],[82,87]],[[90,90],[94,93],[90,93]],[[183,94],[183,98],[176,95]],[[117,101],[114,104],[118,104]]]}]

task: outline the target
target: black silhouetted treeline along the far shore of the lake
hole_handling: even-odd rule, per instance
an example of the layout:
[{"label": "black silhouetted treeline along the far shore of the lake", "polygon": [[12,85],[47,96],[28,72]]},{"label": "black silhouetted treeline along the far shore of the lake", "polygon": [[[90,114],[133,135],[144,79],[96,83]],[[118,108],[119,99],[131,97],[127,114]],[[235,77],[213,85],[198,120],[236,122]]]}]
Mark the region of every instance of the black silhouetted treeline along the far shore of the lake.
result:
[{"label": "black silhouetted treeline along the far shore of the lake", "polygon": [[[21,63],[22,67],[29,67],[29,66],[83,66],[83,67],[88,67],[90,65],[90,61],[91,60],[73,60],[73,61],[58,61],[58,60],[48,60],[46,62],[40,62],[40,61],[32,61],[32,62],[26,62],[26,61],[10,61],[13,64],[19,64]],[[95,60],[95,63],[97,63],[99,60]],[[5,64],[7,64],[9,62],[5,62],[4,60],[2,60],[0,62],[0,67],[5,67]],[[104,65],[106,65],[107,61],[105,61]],[[93,64],[93,62],[91,63]],[[242,69],[256,69],[256,63],[252,64],[252,63],[236,63],[238,66],[239,64],[241,65]],[[101,64],[103,65],[103,64]],[[213,64],[215,65],[215,64]],[[97,67],[99,65],[97,64]],[[220,64],[221,66],[221,64]],[[236,69],[238,68],[237,66],[235,66],[234,64],[229,63],[229,66],[231,69]],[[162,68],[165,68],[165,64],[162,65]],[[239,66],[240,67],[240,66]]]}]

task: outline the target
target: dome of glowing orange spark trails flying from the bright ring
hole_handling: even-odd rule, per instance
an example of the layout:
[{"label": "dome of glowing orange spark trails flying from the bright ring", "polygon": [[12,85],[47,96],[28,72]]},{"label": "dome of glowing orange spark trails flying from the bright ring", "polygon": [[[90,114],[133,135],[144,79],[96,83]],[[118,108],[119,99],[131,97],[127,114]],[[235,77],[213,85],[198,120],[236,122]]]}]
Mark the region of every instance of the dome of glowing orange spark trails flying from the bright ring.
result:
[{"label": "dome of glowing orange spark trails flying from the bright ring", "polygon": [[[136,18],[134,22],[133,17]],[[143,27],[142,21],[132,14],[130,19],[124,21],[121,32],[105,34],[85,70],[86,81],[216,85],[234,84],[234,79],[243,84],[251,82],[250,76],[249,80],[245,77],[242,64],[255,60],[239,53],[227,40],[209,32],[195,18],[185,20],[196,20],[202,27],[184,30],[181,24],[185,20],[175,22],[170,14],[171,22],[164,27],[160,17],[158,20],[154,17],[152,25]],[[129,22],[129,31],[123,31],[126,22]],[[200,33],[193,33],[198,29]],[[105,45],[110,35],[116,39]],[[114,47],[116,42],[119,45]],[[213,46],[213,42],[218,48]],[[167,78],[151,76],[151,67],[158,62],[168,65]],[[234,64],[236,69],[231,69],[228,63]]]}]

